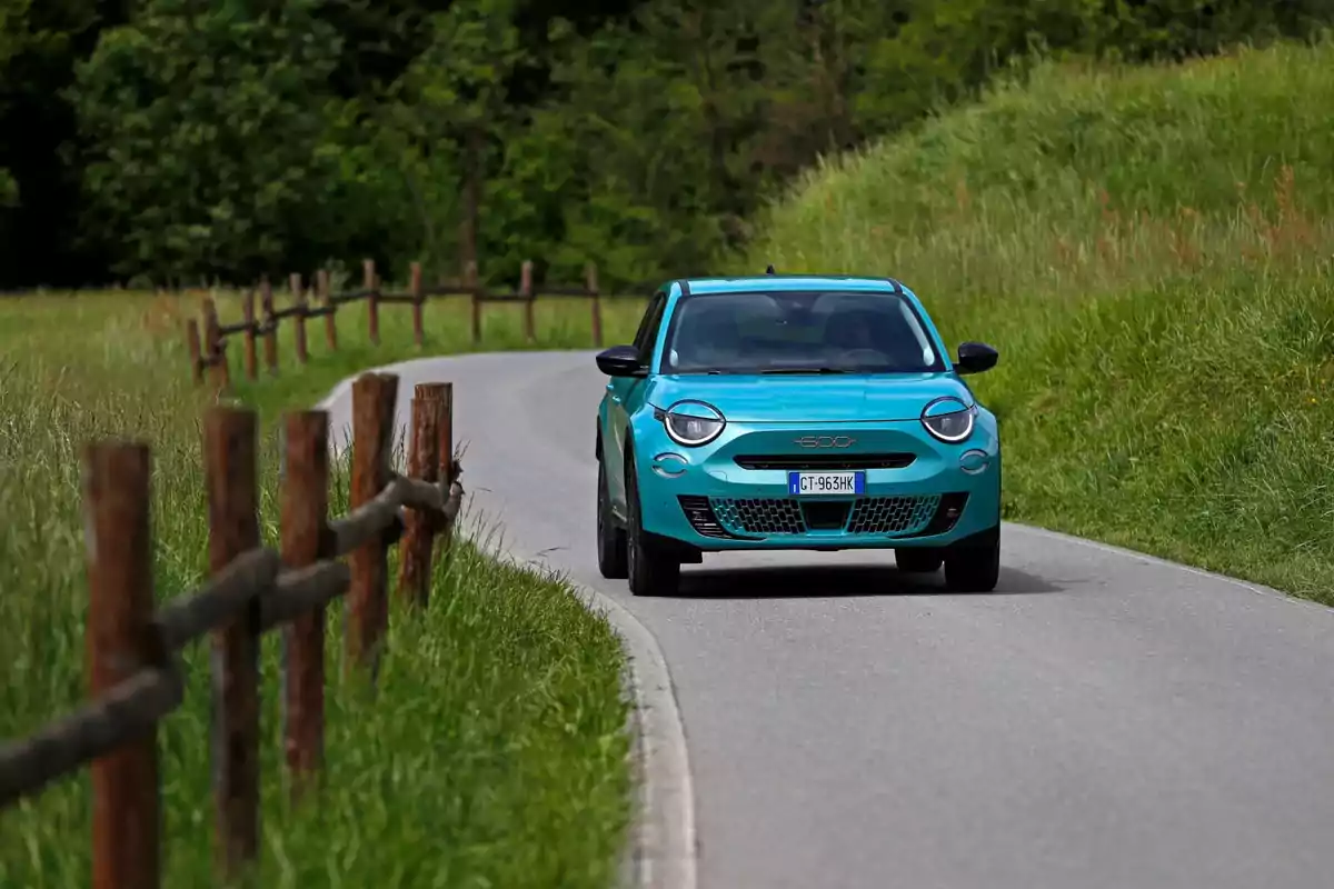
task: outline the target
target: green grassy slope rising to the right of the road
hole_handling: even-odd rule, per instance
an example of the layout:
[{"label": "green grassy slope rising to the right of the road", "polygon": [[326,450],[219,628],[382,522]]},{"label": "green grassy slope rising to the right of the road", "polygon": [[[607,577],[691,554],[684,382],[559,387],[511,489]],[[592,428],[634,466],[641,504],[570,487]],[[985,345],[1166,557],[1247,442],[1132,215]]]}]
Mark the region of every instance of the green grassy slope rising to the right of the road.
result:
[{"label": "green grassy slope rising to the right of the road", "polygon": [[1334,44],[1049,65],[811,175],[746,265],[1000,365],[1006,513],[1334,601]]}]

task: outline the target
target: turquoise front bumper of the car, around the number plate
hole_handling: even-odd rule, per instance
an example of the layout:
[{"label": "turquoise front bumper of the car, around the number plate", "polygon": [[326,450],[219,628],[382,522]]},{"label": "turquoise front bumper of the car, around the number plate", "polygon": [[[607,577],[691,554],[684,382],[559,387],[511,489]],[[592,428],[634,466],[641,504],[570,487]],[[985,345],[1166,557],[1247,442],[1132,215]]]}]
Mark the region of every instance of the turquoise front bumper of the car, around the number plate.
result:
[{"label": "turquoise front bumper of the car, around the number plate", "polygon": [[[944,444],[918,421],[730,423],[703,448],[655,427],[635,435],[643,528],[704,552],[947,546],[1000,522],[999,440],[982,424]],[[788,472],[847,469],[862,493],[788,490]]]}]

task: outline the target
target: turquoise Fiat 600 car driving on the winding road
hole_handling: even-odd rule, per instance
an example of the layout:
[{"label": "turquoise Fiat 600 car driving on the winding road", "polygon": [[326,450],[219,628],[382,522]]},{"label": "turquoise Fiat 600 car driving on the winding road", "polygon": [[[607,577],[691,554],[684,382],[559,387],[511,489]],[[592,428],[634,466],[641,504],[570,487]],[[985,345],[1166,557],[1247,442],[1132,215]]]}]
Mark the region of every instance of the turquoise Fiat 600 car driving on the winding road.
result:
[{"label": "turquoise Fiat 600 car driving on the winding road", "polygon": [[596,356],[598,566],[635,596],[736,550],[892,549],[900,572],[990,592],[1000,437],[922,301],[890,277],[670,281]]}]

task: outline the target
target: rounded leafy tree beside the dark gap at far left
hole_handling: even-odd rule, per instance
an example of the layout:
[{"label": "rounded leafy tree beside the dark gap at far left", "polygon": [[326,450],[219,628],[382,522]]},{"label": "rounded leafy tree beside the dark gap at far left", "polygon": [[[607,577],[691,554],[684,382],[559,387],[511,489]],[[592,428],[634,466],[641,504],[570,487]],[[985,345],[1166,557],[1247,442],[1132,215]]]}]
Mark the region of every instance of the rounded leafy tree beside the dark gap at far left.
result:
[{"label": "rounded leafy tree beside the dark gap at far left", "polygon": [[85,229],[113,237],[115,271],[253,277],[312,260],[339,52],[315,9],[145,0],[103,32],[71,95],[89,143]]}]

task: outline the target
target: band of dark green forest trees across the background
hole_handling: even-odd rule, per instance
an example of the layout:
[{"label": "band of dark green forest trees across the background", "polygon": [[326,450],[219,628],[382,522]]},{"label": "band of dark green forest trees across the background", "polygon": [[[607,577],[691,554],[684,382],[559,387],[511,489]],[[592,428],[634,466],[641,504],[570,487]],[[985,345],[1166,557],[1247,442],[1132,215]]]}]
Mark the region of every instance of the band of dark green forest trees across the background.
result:
[{"label": "band of dark green forest trees across the background", "polygon": [[360,256],[703,272],[795,173],[998,71],[1330,21],[1325,0],[0,0],[0,287]]}]

